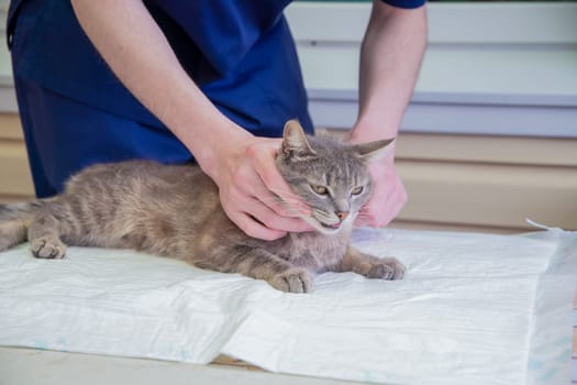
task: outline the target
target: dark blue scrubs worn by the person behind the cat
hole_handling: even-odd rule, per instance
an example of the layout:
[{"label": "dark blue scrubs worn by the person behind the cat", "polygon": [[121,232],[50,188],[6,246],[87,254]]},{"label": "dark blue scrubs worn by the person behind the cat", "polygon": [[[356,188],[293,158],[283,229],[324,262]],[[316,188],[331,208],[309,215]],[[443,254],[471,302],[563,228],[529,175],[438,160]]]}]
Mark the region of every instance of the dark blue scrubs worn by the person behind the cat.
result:
[{"label": "dark blue scrubs worn by the person behind the cat", "polygon": [[[385,1],[402,8],[424,3]],[[185,70],[221,112],[255,135],[281,136],[289,119],[299,119],[307,132],[313,131],[295,42],[282,15],[289,2],[145,0],[144,4]],[[55,194],[69,175],[97,162],[191,160],[116,79],[84,33],[69,1],[13,0],[7,32],[38,196]],[[89,111],[95,111],[95,119]],[[82,119],[97,123],[82,131],[78,129]],[[98,127],[99,119],[107,120],[106,129]],[[70,138],[75,143],[68,155]]]}]

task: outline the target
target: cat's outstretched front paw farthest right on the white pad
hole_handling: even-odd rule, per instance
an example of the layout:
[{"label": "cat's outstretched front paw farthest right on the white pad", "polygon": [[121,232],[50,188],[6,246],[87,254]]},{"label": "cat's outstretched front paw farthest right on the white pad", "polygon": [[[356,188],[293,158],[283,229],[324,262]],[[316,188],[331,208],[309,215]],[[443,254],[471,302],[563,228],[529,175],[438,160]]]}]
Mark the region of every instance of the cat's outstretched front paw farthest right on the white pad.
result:
[{"label": "cat's outstretched front paw farthest right on the white pad", "polygon": [[337,272],[354,272],[367,278],[402,279],[404,265],[395,257],[376,257],[348,246]]}]

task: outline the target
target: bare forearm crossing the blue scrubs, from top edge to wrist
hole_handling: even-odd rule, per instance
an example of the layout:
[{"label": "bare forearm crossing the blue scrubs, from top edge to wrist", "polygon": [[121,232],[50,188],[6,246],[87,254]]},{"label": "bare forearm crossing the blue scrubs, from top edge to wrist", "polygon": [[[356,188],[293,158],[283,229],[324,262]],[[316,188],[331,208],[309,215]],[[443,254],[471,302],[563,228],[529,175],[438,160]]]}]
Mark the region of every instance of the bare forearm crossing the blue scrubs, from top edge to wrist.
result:
[{"label": "bare forearm crossing the blue scrubs, from top edge to wrist", "polygon": [[140,0],[73,0],[82,29],[122,84],[195,154],[203,168],[214,148],[251,136],[226,119],[180,66]]}]

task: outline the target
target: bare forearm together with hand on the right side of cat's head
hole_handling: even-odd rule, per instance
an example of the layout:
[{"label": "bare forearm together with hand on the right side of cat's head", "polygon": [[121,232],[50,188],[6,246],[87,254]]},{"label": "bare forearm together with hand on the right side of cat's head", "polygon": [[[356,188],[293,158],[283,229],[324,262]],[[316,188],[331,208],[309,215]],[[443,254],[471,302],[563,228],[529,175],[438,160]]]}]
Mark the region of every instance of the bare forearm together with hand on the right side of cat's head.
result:
[{"label": "bare forearm together with hand on the right side of cat's head", "polygon": [[[359,112],[348,140],[353,143],[397,136],[411,98],[426,45],[426,10],[403,10],[373,1],[363,40]],[[395,145],[370,165],[374,190],[360,211],[359,226],[386,226],[408,196],[395,167]]]}]

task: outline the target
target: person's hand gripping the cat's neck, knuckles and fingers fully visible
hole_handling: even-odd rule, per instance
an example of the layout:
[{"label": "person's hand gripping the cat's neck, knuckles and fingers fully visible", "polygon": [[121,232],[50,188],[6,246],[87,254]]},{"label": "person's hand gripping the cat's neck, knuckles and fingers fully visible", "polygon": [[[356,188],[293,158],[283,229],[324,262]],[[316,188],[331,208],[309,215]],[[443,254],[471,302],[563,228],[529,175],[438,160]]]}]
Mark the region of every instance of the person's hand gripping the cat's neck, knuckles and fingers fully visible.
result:
[{"label": "person's hand gripping the cat's neck, knuckles and fingers fully visible", "polygon": [[268,241],[313,230],[298,218],[310,209],[276,167],[280,144],[280,139],[255,136],[230,142],[221,148],[221,163],[211,175],[229,218],[247,235]]}]

